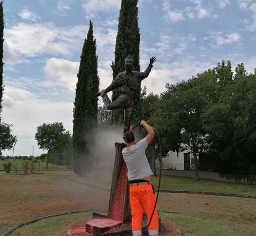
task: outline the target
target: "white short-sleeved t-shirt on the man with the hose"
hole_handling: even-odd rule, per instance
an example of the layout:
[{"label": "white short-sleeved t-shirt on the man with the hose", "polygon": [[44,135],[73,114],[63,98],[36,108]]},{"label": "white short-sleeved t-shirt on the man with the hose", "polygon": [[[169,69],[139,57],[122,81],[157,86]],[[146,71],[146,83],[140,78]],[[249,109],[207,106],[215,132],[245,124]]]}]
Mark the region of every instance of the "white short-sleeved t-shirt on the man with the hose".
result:
[{"label": "white short-sleeved t-shirt on the man with the hose", "polygon": [[123,159],[128,169],[129,181],[153,175],[145,153],[147,146],[147,140],[144,138],[137,144],[122,149]]}]

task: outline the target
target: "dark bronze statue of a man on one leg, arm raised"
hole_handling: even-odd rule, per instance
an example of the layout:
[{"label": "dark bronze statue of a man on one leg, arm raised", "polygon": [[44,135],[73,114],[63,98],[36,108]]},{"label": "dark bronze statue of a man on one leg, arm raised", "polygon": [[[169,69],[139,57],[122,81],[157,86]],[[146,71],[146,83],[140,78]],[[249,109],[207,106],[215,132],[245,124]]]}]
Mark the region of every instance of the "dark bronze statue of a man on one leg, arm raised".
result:
[{"label": "dark bronze statue of a man on one leg, arm raised", "polygon": [[[150,63],[147,69],[144,72],[137,72],[132,71],[133,58],[131,56],[126,56],[124,59],[125,71],[118,73],[118,76],[113,80],[109,87],[96,94],[97,96],[102,96],[103,102],[107,109],[124,109],[123,133],[128,131],[131,126],[133,106],[136,103],[139,82],[148,77],[151,68],[153,67],[153,63],[156,61],[156,57],[153,56],[149,60]],[[117,100],[111,102],[107,96],[107,92],[117,88],[119,88],[121,94]]]}]

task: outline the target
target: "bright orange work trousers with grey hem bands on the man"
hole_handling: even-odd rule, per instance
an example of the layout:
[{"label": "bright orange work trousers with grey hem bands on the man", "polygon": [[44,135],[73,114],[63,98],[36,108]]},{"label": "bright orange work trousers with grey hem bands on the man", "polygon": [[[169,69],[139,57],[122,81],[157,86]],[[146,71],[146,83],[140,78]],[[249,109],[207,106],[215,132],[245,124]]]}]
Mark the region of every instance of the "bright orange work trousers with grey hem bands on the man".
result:
[{"label": "bright orange work trousers with grey hem bands on the man", "polygon": [[[130,205],[132,215],[133,236],[142,236],[142,216],[143,210],[146,213],[148,222],[152,216],[156,203],[155,188],[152,184],[133,183],[130,185]],[[149,236],[159,236],[158,233],[158,208],[156,207],[151,223],[148,227]]]}]

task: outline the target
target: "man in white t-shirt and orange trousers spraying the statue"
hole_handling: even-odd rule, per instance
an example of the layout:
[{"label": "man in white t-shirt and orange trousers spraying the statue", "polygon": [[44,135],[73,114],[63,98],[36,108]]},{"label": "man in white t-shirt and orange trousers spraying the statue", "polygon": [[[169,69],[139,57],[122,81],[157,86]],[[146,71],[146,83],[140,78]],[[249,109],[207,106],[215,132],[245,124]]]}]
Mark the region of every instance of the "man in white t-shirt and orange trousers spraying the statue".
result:
[{"label": "man in white t-shirt and orange trousers spraying the statue", "polygon": [[152,221],[148,227],[148,235],[159,236],[157,208],[154,211],[156,203],[155,188],[151,183],[153,173],[145,153],[146,147],[155,136],[155,131],[145,121],[141,121],[140,125],[147,130],[148,135],[136,144],[134,130],[131,128],[130,131],[124,134],[127,147],[122,150],[130,183],[132,233],[133,236],[142,236],[141,221],[144,210],[148,221],[152,217]]}]

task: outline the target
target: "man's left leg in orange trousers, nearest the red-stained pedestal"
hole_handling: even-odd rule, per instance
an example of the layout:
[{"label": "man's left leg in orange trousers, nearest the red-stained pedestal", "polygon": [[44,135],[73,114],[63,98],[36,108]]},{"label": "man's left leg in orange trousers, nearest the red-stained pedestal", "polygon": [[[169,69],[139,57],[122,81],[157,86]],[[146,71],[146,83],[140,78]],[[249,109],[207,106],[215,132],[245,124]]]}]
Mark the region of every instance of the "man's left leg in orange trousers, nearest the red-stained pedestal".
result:
[{"label": "man's left leg in orange trousers, nearest the red-stained pedestal", "polygon": [[132,233],[133,236],[142,236],[142,216],[143,208],[138,196],[139,189],[137,186],[130,187],[130,206],[132,215]]}]

